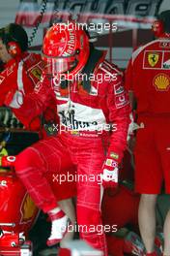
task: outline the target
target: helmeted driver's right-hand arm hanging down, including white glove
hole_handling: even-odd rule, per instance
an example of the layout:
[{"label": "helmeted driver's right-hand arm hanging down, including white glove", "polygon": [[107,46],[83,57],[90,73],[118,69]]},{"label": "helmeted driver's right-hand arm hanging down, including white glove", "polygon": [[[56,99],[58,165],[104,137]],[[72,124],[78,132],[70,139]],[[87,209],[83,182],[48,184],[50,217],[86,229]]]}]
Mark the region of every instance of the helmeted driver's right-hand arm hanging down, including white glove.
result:
[{"label": "helmeted driver's right-hand arm hanging down, including white glove", "polygon": [[[109,122],[112,124],[110,145],[103,165],[102,185],[116,187],[118,184],[118,169],[127,147],[130,104],[128,93],[124,88],[123,77],[117,75],[117,80],[108,84],[107,107]],[[104,180],[104,181],[103,181]]]}]

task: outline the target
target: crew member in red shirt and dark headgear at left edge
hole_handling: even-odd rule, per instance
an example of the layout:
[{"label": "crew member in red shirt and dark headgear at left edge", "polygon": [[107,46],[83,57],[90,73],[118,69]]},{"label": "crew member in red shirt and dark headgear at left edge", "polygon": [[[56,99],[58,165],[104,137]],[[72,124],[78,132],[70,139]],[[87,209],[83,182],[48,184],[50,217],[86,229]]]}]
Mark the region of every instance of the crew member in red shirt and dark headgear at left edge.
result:
[{"label": "crew member in red shirt and dark headgear at left edge", "polygon": [[[20,25],[11,23],[0,29],[0,59],[4,63],[0,73],[0,106],[4,105],[9,91],[17,90],[14,97],[22,99],[25,94],[32,92],[41,80],[42,57],[40,54],[28,52],[27,49],[27,33]],[[20,119],[19,112],[17,117],[26,128],[39,130],[40,120],[37,120],[36,125],[36,122],[28,123],[25,116]]]}]

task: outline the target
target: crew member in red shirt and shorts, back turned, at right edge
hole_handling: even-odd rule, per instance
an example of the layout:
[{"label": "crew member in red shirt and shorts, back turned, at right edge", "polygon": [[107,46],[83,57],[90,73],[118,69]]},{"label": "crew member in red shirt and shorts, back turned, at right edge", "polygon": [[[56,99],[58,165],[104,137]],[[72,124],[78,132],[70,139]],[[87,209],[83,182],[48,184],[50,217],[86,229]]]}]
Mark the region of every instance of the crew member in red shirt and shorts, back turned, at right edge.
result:
[{"label": "crew member in red shirt and shorts, back turned, at right edge", "polygon": [[[156,198],[164,180],[170,193],[170,11],[153,24],[156,40],[136,49],[126,87],[137,102],[135,189],[141,194],[139,228],[147,255],[156,255]],[[164,254],[170,255],[170,211],[164,223]]]}]

